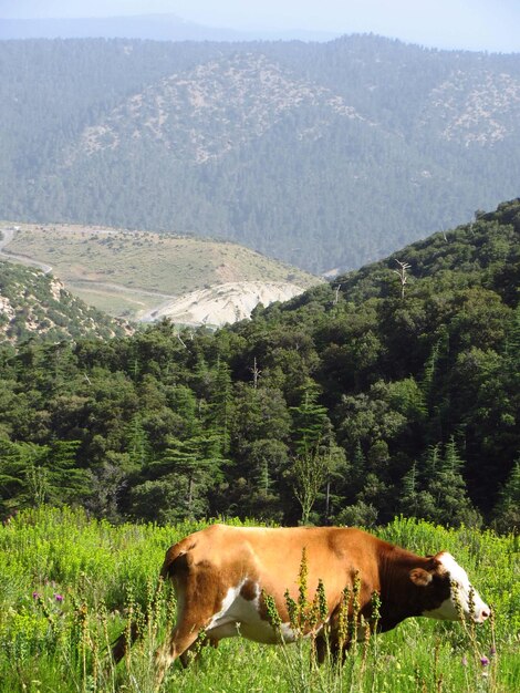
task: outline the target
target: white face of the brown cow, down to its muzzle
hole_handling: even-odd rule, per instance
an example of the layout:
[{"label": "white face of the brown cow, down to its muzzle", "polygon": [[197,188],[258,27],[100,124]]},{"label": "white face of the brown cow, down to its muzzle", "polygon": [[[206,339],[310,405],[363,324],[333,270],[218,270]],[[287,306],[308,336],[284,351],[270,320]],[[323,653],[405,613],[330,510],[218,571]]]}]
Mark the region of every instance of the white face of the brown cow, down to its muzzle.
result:
[{"label": "white face of the brown cow, down to its muzzle", "polygon": [[[440,562],[441,570],[446,571],[450,580],[451,594],[437,609],[425,611],[424,616],[441,621],[458,621],[460,616],[457,604],[460,604],[465,617],[469,617],[479,623],[483,622],[489,617],[489,607],[471,586],[466,570],[457,563],[450,554],[439,554],[437,559]],[[471,599],[474,602],[472,613],[470,613]]]}]

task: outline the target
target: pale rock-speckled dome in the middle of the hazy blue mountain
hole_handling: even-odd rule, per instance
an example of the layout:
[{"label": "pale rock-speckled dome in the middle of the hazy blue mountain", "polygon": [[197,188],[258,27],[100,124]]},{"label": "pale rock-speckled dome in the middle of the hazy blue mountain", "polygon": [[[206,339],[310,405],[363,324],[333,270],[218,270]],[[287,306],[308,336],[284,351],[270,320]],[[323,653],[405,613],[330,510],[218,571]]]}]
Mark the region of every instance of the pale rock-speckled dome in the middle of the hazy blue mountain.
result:
[{"label": "pale rock-speckled dome in the middle of the hazy blue mountain", "polygon": [[134,94],[86,127],[65,156],[70,166],[103,152],[135,157],[158,145],[189,164],[221,159],[268,134],[285,115],[312,108],[316,125],[295,124],[297,139],[315,139],[335,117],[365,121],[330,89],[301,80],[258,53],[237,53],[174,74]]}]

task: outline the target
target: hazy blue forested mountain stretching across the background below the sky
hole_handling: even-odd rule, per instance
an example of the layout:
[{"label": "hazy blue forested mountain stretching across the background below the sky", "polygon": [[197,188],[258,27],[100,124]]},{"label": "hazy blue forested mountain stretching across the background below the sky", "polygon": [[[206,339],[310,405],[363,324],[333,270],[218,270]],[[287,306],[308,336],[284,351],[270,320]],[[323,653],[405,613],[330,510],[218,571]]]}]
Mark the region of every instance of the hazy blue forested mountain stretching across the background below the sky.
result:
[{"label": "hazy blue forested mountain stretching across the background below the sky", "polygon": [[329,43],[0,42],[4,218],[360,267],[518,195],[520,56]]}]

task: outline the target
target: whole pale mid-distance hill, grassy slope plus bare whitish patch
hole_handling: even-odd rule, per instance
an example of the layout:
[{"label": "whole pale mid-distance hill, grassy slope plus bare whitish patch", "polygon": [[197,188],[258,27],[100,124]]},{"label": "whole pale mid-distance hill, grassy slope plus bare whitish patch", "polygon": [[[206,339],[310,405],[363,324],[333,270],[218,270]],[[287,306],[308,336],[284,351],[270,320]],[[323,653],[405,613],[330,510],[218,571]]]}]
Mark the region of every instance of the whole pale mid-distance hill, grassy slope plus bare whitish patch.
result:
[{"label": "whole pale mid-distance hill, grassy slope plus bare whitish patch", "polygon": [[131,320],[220,325],[321,281],[225,241],[80,225],[1,228],[3,258],[52,270],[85,302]]}]

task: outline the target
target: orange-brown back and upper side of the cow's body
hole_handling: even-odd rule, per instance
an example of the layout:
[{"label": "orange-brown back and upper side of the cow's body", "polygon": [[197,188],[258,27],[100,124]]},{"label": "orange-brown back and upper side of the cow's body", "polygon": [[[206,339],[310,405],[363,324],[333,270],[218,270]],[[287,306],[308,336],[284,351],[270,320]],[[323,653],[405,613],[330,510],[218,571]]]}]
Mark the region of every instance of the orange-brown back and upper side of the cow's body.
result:
[{"label": "orange-brown back and upper side of the cow's body", "polygon": [[[358,573],[366,590],[378,589],[379,540],[354,528],[340,527],[229,527],[212,525],[169,549],[164,575],[186,579],[206,573],[222,589],[241,586],[245,594],[262,590],[279,608],[284,593],[295,598],[303,555],[308,570],[308,598],[319,580],[330,602],[337,601]],[[175,580],[174,580],[175,581]]]}]

